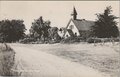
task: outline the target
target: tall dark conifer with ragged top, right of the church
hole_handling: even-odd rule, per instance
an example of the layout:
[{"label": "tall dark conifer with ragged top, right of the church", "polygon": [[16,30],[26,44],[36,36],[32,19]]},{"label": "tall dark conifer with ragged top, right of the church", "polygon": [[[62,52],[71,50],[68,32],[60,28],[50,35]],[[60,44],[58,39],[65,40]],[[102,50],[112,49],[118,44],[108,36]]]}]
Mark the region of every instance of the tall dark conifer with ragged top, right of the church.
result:
[{"label": "tall dark conifer with ragged top, right of the church", "polygon": [[106,7],[103,14],[96,14],[98,19],[92,27],[93,36],[99,38],[117,37],[119,30],[115,19],[118,17],[111,14],[112,7]]}]

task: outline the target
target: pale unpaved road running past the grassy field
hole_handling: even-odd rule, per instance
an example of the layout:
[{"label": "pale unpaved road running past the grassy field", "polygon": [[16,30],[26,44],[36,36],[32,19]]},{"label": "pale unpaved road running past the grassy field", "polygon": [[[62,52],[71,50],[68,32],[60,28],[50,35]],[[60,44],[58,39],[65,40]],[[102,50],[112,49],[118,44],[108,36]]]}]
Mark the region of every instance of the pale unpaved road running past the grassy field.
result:
[{"label": "pale unpaved road running past the grassy field", "polygon": [[25,77],[109,77],[97,70],[32,48],[11,45]]}]

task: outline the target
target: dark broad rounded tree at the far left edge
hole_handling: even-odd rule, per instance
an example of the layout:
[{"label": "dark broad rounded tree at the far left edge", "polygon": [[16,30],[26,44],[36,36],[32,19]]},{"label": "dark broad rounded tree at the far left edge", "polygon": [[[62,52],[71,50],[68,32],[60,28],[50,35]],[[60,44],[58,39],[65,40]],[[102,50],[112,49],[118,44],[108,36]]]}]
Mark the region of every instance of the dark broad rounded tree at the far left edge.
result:
[{"label": "dark broad rounded tree at the far left edge", "polygon": [[25,35],[23,20],[2,20],[0,21],[0,41],[15,42]]}]

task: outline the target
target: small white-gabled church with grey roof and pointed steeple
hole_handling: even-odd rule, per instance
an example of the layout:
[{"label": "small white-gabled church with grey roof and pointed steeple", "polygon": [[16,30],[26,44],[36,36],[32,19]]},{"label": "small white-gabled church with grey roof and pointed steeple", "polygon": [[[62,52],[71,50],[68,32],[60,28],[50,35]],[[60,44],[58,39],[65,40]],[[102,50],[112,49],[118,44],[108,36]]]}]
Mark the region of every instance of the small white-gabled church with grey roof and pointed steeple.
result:
[{"label": "small white-gabled church with grey roof and pointed steeple", "polygon": [[73,8],[73,12],[71,14],[72,18],[69,20],[66,31],[63,35],[64,38],[67,37],[89,37],[91,26],[95,24],[94,21],[89,21],[85,19],[77,18],[77,11],[75,7]]}]

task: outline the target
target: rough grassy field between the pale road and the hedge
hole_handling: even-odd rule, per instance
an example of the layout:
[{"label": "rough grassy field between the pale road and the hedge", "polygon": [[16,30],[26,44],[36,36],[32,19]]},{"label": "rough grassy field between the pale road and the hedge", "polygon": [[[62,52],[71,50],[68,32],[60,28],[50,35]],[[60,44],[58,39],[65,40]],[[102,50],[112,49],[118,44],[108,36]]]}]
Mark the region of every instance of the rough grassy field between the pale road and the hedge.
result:
[{"label": "rough grassy field between the pale road and the hedge", "polygon": [[[23,46],[23,45],[21,45]],[[119,44],[26,44],[26,47],[57,55],[72,62],[80,63],[111,77],[119,77]]]}]

